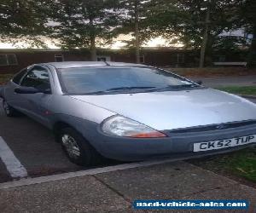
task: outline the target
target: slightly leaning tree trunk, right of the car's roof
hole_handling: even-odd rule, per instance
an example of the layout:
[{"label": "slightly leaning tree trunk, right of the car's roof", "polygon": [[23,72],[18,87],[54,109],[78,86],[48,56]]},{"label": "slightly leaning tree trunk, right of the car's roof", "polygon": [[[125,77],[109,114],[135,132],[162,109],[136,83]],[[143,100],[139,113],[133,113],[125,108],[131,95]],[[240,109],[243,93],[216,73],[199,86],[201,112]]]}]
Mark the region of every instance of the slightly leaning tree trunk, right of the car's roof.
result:
[{"label": "slightly leaning tree trunk, right of the car's roof", "polygon": [[205,22],[205,32],[204,37],[201,43],[201,54],[200,54],[200,65],[199,67],[202,68],[205,65],[205,56],[206,56],[206,49],[207,49],[207,42],[208,42],[208,31],[209,31],[209,20],[210,20],[210,9],[207,9],[207,16]]}]

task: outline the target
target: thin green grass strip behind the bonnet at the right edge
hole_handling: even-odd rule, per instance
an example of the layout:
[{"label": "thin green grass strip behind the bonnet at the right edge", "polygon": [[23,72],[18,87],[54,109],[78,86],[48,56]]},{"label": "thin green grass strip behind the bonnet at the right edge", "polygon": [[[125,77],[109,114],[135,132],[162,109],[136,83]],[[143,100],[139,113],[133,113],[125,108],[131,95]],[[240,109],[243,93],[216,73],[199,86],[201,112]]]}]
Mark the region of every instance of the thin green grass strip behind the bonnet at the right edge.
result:
[{"label": "thin green grass strip behind the bonnet at the right edge", "polygon": [[256,95],[256,86],[228,86],[228,87],[218,87],[215,89],[223,90],[228,93],[238,94],[238,95]]}]

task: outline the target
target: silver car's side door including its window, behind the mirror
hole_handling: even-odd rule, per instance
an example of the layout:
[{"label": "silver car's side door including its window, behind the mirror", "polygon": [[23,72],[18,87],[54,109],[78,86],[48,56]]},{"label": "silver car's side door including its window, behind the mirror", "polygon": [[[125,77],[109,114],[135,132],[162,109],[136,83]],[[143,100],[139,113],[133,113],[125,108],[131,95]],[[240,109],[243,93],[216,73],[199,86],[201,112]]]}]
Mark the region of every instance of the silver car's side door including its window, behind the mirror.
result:
[{"label": "silver car's side door including its window, behind the mirror", "polygon": [[[42,92],[22,95],[25,100],[26,114],[41,124],[48,125],[48,102],[52,97],[50,85],[51,73],[44,66],[34,66],[21,80],[21,87],[32,87]],[[45,91],[45,92],[44,92]]]}]

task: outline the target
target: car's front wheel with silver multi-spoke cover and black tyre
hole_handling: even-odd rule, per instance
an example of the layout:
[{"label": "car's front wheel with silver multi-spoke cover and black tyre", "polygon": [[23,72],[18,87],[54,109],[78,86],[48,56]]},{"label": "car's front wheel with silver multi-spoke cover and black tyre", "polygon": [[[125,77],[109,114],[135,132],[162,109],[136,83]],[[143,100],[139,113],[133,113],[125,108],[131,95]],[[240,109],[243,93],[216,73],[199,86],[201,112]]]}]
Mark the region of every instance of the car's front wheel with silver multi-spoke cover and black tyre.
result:
[{"label": "car's front wheel with silver multi-spoke cover and black tyre", "polygon": [[62,129],[58,134],[58,141],[61,142],[67,158],[74,164],[91,166],[102,162],[102,156],[73,128]]}]

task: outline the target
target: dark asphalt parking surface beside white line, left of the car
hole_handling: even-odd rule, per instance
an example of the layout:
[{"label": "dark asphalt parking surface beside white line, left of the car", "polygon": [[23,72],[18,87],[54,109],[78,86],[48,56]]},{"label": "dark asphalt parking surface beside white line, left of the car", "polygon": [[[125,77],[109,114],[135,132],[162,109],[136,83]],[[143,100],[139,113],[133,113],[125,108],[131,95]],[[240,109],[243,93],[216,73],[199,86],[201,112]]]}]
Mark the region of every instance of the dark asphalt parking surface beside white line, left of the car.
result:
[{"label": "dark asphalt parking surface beside white line, left of the car", "polygon": [[[2,103],[2,100],[0,100]],[[256,103],[256,99],[251,100]],[[9,146],[15,157],[20,160],[28,176],[48,176],[69,171],[88,170],[69,162],[56,143],[51,131],[26,116],[7,118],[0,104],[0,136]],[[121,164],[121,162],[106,161],[100,166]],[[0,160],[0,182],[12,178]]]}]

